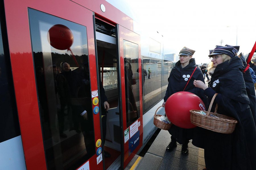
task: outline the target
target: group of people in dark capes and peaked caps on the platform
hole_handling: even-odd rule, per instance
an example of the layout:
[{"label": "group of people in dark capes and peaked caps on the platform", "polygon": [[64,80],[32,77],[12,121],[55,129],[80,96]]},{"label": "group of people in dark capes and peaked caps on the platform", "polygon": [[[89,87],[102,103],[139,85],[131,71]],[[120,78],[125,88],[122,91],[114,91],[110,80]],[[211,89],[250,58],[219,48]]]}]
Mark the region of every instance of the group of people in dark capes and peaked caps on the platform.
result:
[{"label": "group of people in dark capes and peaked caps on the platform", "polygon": [[[256,71],[256,59],[251,60],[250,68],[242,53],[238,55],[238,51],[239,46],[216,46],[208,55],[211,62],[207,66],[199,67],[192,58],[195,50],[184,47],[179,52],[179,61],[168,78],[162,107],[165,107],[166,100],[172,94],[188,91],[199,96],[208,109],[215,95],[211,112],[214,112],[218,104],[218,114],[238,120],[232,134],[213,132],[200,127],[184,129],[175,125],[168,130],[171,141],[166,150],[172,151],[178,142],[182,145],[181,153],[187,155],[188,143],[192,139],[193,145],[204,149],[204,169],[256,169],[256,76],[253,72]],[[190,76],[192,78],[189,81],[186,77]],[[205,77],[208,85],[205,83]]]}]

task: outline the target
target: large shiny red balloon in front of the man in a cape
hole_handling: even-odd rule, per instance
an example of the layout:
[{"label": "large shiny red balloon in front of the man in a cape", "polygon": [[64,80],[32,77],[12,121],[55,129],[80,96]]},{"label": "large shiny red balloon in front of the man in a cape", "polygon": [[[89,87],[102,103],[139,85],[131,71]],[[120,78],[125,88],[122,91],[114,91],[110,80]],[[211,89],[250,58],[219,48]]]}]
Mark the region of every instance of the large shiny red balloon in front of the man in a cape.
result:
[{"label": "large shiny red balloon in front of the man in a cape", "polygon": [[205,110],[205,104],[197,95],[181,91],[172,94],[165,104],[165,113],[168,119],[180,128],[195,128],[190,122],[189,110]]}]

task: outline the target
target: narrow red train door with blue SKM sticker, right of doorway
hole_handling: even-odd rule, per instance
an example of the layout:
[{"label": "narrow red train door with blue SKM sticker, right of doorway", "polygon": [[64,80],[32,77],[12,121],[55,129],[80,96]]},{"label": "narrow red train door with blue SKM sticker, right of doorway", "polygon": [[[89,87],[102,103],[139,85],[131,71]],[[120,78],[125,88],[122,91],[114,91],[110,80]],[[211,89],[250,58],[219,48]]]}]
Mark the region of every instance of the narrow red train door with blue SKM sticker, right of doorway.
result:
[{"label": "narrow red train door with blue SKM sticker, right of doorway", "polygon": [[143,109],[140,36],[117,25],[121,75],[121,124],[123,148],[121,167],[125,168],[142,146]]}]

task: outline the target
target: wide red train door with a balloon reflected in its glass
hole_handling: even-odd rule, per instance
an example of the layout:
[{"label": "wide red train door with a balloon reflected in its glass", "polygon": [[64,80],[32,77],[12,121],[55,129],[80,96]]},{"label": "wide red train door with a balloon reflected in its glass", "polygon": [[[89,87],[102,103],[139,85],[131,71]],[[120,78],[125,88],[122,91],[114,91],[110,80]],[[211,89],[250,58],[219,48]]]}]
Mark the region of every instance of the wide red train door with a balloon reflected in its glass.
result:
[{"label": "wide red train door with a balloon reflected in its glass", "polygon": [[103,169],[93,12],[5,1],[26,168]]}]

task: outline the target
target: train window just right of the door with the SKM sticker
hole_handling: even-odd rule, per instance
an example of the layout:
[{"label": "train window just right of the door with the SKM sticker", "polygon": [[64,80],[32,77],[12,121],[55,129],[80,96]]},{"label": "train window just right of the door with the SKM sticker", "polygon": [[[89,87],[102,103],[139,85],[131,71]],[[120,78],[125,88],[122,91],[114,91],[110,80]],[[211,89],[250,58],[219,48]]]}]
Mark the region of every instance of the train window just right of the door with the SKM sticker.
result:
[{"label": "train window just right of the door with the SKM sticker", "polygon": [[162,99],[162,65],[160,60],[143,57],[143,69],[146,70],[144,83],[144,111],[146,113]]}]

